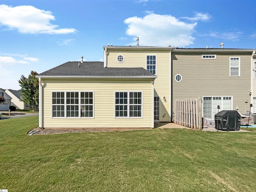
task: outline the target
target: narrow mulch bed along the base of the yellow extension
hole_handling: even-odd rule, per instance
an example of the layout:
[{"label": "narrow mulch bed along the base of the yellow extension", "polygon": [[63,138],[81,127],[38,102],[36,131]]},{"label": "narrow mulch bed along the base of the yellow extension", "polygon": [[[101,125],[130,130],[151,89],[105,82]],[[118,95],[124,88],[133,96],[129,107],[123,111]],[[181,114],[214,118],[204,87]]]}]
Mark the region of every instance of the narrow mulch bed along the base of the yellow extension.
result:
[{"label": "narrow mulch bed along the base of the yellow extension", "polygon": [[62,134],[62,133],[82,133],[82,132],[110,132],[110,131],[134,131],[134,130],[150,130],[151,128],[34,128],[28,133],[39,130],[34,135],[46,134]]}]

